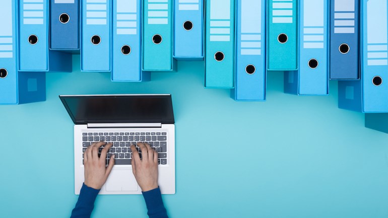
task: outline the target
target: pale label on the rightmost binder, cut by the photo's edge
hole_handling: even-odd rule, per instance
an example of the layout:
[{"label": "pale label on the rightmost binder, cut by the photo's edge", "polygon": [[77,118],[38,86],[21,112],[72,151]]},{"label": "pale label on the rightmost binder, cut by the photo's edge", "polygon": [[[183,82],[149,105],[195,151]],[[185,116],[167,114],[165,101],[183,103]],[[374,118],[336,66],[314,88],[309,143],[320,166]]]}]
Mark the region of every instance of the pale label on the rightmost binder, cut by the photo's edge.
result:
[{"label": "pale label on the rightmost binder, cut by the photo's edge", "polygon": [[388,65],[386,0],[370,0],[366,4],[367,64]]}]

